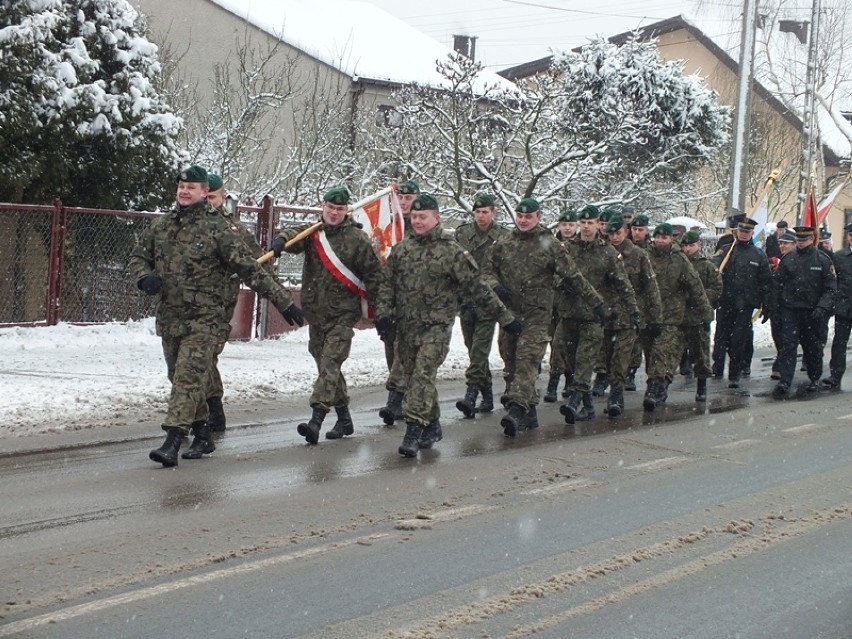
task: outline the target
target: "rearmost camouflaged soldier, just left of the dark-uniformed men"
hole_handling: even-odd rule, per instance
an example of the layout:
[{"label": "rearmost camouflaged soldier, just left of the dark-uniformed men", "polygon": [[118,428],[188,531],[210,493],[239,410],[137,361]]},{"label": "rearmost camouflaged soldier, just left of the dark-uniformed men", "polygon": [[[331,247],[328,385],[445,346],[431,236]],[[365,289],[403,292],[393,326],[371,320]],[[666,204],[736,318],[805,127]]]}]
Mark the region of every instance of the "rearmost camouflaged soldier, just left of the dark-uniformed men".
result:
[{"label": "rearmost camouflaged soldier, just left of the dark-uniformed men", "polygon": [[[695,231],[687,231],[681,239],[683,253],[689,258],[692,268],[698,273],[707,301],[716,308],[722,295],[722,276],[716,266],[701,254],[701,236]],[[699,315],[699,305],[692,299],[686,300],[686,312],[683,315],[683,341],[693,361],[695,374],[695,401],[707,401],[707,378],[713,376],[710,366],[710,317],[706,320]]]}]

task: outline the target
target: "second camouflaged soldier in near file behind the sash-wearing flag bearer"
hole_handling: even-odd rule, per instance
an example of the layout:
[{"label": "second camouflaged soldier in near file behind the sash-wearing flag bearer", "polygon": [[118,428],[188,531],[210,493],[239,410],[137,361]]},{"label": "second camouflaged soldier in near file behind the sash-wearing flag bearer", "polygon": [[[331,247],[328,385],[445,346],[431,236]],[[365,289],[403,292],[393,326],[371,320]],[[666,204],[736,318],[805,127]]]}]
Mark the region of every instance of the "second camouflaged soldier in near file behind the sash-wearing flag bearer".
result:
[{"label": "second camouflaged soldier in near file behind the sash-wearing flag bearer", "polygon": [[515,230],[494,245],[488,282],[509,309],[523,322],[520,335],[507,348],[508,413],[500,421],[503,434],[514,437],[519,428],[537,428],[538,393],[535,382],[549,341],[553,313],[553,284],[606,316],[603,300],[580,273],[568,252],[541,224],[541,207],[533,198],[515,208]]}]

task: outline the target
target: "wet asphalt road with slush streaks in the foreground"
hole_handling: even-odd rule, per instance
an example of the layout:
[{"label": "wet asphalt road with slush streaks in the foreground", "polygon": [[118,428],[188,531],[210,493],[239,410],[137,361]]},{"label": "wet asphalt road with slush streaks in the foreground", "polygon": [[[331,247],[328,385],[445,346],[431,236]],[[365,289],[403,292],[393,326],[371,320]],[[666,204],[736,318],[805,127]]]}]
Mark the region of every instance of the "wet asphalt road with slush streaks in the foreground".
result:
[{"label": "wet asphalt road with slush streaks in the foreground", "polygon": [[176,470],[150,430],[0,455],[0,637],[852,637],[846,393],[679,378],[507,440],[451,388],[417,460],[378,389],[316,447],[287,409]]}]

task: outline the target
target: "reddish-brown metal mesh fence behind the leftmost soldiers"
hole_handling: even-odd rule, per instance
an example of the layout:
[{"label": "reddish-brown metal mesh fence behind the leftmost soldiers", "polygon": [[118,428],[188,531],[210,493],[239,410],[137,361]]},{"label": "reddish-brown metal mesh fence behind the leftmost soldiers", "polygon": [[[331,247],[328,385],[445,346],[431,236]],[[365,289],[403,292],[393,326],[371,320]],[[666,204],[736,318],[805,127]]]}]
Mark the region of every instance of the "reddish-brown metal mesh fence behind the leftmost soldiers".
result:
[{"label": "reddish-brown metal mesh fence behind the leftmost soldiers", "polygon": [[[312,221],[319,209],[234,206],[269,246],[281,226]],[[127,321],[154,314],[156,300],[130,281],[127,264],[142,232],[159,213],[0,203],[0,325]],[[282,282],[298,286],[300,256],[279,260]],[[256,306],[258,324],[261,304]]]}]

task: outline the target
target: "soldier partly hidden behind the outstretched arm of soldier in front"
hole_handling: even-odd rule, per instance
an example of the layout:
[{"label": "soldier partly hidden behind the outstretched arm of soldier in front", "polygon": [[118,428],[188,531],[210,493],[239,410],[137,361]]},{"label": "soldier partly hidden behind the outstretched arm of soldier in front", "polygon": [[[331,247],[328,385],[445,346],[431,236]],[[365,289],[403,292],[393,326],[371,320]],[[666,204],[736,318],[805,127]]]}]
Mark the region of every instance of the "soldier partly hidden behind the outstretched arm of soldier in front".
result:
[{"label": "soldier partly hidden behind the outstretched arm of soldier in front", "polygon": [[[456,229],[456,241],[467,249],[477,264],[490,259],[491,247],[509,232],[494,220],[497,215],[496,202],[490,193],[479,193],[473,200],[473,222],[462,224]],[[490,413],[494,410],[494,392],[491,386],[491,367],[488,358],[494,342],[494,325],[497,318],[479,309],[473,300],[462,298],[461,329],[467,347],[470,365],[465,371],[467,392],[464,399],[456,402],[465,417],[476,412]],[[500,340],[502,344],[504,340]],[[502,355],[502,353],[501,353]],[[482,393],[482,403],[477,408],[476,396]]]}]

